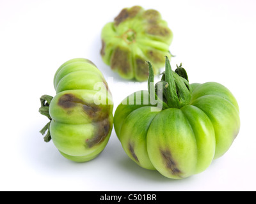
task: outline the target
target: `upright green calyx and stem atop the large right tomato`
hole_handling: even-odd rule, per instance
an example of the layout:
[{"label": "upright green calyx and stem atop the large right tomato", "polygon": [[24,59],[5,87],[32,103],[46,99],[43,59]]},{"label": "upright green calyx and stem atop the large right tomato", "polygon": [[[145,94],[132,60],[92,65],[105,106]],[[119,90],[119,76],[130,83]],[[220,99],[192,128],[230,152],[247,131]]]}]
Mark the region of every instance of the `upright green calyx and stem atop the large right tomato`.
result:
[{"label": "upright green calyx and stem atop the large right tomato", "polygon": [[154,72],[152,64],[148,63],[148,92],[150,98],[154,98],[159,103],[163,104],[163,109],[166,108],[182,108],[189,105],[191,101],[191,87],[188,82],[186,70],[182,68],[182,64],[177,66],[175,71],[172,71],[170,61],[166,56],[165,71],[161,74],[163,77],[160,82],[154,85]]}]

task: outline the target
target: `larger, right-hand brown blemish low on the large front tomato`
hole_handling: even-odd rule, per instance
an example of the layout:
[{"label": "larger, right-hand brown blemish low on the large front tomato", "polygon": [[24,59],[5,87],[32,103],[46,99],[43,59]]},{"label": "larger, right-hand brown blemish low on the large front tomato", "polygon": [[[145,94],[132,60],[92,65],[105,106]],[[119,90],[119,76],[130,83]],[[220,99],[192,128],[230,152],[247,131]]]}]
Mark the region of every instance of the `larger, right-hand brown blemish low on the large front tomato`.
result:
[{"label": "larger, right-hand brown blemish low on the large front tomato", "polygon": [[182,172],[177,167],[177,163],[174,161],[170,150],[161,150],[161,156],[163,158],[164,163],[166,164],[166,168],[171,171],[172,175],[179,176]]}]

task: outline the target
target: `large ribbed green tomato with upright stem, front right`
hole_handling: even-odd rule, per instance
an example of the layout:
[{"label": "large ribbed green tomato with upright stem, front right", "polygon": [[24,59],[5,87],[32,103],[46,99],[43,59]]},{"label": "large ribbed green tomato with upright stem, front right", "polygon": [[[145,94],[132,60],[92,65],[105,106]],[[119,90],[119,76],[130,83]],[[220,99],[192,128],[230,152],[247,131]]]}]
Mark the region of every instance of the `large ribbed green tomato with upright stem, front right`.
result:
[{"label": "large ribbed green tomato with upright stem, front right", "polygon": [[236,99],[215,82],[189,84],[185,69],[172,71],[168,57],[162,86],[158,82],[154,89],[148,65],[148,91],[131,94],[116,108],[114,127],[122,147],[135,163],[168,178],[204,171],[239,133]]}]

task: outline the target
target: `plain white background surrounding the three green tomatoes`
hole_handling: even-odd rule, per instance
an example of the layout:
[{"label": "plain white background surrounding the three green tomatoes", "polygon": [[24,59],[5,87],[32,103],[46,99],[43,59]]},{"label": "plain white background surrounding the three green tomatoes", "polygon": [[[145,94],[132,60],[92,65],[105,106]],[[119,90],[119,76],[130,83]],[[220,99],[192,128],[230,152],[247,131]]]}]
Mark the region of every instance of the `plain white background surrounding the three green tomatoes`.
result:
[{"label": "plain white background surrounding the three green tomatoes", "polygon": [[[151,2],[151,3],[150,3]],[[102,71],[115,108],[147,82],[128,85],[102,62],[100,32],[125,7],[158,10],[172,29],[172,67],[189,82],[219,82],[236,96],[241,130],[207,170],[183,180],[144,170],[126,156],[113,130],[88,163],[60,155],[39,131],[40,96],[54,96],[56,69],[84,57]],[[0,0],[1,191],[255,191],[256,1],[9,1]],[[113,82],[109,77],[114,77]],[[122,82],[122,83],[121,83]]]}]

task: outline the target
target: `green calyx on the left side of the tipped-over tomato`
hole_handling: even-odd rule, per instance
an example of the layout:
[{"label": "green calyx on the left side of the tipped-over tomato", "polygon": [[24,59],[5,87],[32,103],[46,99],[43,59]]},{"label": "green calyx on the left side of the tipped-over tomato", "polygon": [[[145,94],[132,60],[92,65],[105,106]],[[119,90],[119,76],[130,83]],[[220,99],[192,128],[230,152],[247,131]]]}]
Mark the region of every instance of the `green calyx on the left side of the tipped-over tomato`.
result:
[{"label": "green calyx on the left side of the tipped-over tomato", "polygon": [[51,133],[50,133],[50,124],[51,124],[51,116],[49,114],[49,107],[50,107],[50,103],[52,101],[52,96],[48,96],[48,95],[44,95],[41,96],[40,101],[41,101],[41,107],[39,108],[39,112],[42,115],[45,115],[46,117],[48,117],[48,119],[50,120],[50,122],[48,122],[43,129],[41,129],[40,133],[42,135],[45,134],[45,132],[47,131],[46,135],[44,136],[44,141],[45,142],[50,142],[51,140]]}]

